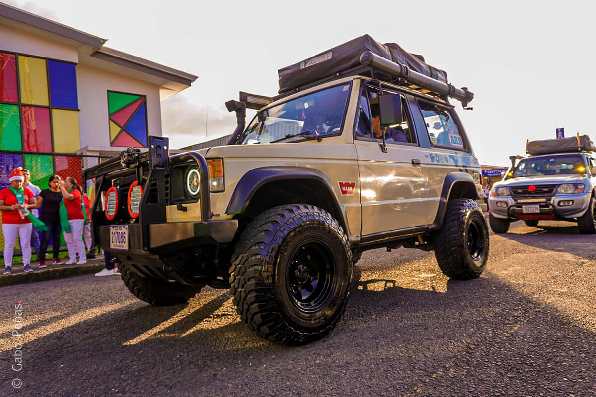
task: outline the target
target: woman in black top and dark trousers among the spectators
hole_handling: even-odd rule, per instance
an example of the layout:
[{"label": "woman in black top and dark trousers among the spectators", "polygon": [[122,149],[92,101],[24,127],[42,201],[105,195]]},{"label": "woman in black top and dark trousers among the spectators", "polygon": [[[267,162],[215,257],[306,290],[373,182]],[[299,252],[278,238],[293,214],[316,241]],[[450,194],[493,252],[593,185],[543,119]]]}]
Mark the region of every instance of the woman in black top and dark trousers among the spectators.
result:
[{"label": "woman in black top and dark trousers among the spectators", "polygon": [[48,230],[41,235],[41,244],[39,244],[39,266],[46,267],[45,253],[48,250],[49,238],[52,238],[52,264],[62,264],[58,254],[60,253],[60,203],[62,202],[62,193],[60,193],[60,177],[52,175],[48,180],[49,189],[44,189],[37,197],[38,207],[41,207],[39,219],[45,223]]}]

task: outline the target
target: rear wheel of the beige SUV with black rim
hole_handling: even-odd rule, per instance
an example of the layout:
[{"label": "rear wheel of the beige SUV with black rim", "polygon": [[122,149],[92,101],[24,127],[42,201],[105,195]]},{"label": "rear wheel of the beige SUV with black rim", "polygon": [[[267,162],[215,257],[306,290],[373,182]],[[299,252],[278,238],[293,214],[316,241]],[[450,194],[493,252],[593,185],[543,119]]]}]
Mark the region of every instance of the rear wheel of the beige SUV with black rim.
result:
[{"label": "rear wheel of the beige SUV with black rim", "polygon": [[478,203],[469,198],[450,200],[443,224],[434,235],[434,256],[444,275],[473,279],[488,260],[489,233]]}]

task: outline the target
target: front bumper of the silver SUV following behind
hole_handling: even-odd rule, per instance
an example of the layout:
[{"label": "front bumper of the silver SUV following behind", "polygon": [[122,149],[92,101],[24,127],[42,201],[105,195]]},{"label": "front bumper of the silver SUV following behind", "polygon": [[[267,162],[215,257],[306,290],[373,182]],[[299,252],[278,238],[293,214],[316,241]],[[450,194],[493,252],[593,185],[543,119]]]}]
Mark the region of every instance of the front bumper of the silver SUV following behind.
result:
[{"label": "front bumper of the silver SUV following behind", "polygon": [[[578,218],[586,212],[590,197],[590,192],[541,197],[491,196],[488,200],[488,207],[492,216],[501,219],[571,219]],[[520,200],[524,200],[524,202],[520,202]],[[573,204],[561,206],[561,201],[573,201]],[[497,203],[506,203],[506,206],[499,207]],[[523,213],[523,206],[527,204],[539,204],[540,212]]]}]

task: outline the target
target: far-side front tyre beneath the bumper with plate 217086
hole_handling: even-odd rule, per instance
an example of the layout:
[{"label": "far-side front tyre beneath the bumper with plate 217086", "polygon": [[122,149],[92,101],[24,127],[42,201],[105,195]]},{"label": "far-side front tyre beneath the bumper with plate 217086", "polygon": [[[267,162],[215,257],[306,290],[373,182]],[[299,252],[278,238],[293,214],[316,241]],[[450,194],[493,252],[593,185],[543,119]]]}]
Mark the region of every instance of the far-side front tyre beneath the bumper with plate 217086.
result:
[{"label": "far-side front tyre beneath the bumper with plate 217086", "polygon": [[187,303],[201,291],[201,286],[184,285],[177,281],[169,282],[150,279],[136,274],[129,266],[120,264],[122,281],[132,295],[154,306],[171,306]]}]

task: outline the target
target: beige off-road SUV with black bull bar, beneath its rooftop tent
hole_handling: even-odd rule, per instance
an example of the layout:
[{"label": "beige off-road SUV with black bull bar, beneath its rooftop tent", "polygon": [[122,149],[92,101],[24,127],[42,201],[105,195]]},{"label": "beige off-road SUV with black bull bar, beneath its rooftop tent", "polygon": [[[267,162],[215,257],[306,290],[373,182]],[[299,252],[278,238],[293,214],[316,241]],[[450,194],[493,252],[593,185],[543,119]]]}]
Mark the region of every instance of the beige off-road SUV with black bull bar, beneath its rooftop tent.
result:
[{"label": "beige off-road SUV with black bull bar, beneath its rooftop tent", "polygon": [[[362,251],[434,250],[449,277],[483,272],[480,166],[448,101],[472,94],[371,51],[359,62],[277,97],[241,93],[226,146],[169,156],[150,137],[86,170],[103,197],[95,235],[132,294],[169,305],[230,288],[255,332],[304,344],[336,326]],[[246,106],[260,108],[248,127]]]}]

